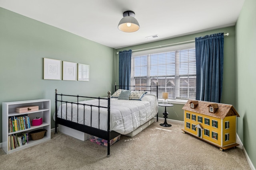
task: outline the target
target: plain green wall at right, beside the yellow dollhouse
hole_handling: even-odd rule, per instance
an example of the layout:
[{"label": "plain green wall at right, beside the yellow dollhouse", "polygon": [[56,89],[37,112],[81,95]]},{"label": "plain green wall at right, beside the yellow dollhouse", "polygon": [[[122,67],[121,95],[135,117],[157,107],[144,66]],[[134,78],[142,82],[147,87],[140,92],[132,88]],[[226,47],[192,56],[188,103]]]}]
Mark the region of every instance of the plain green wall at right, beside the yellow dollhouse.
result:
[{"label": "plain green wall at right, beside the yellow dollhouse", "polygon": [[245,0],[236,23],[237,133],[256,167],[256,0]]}]

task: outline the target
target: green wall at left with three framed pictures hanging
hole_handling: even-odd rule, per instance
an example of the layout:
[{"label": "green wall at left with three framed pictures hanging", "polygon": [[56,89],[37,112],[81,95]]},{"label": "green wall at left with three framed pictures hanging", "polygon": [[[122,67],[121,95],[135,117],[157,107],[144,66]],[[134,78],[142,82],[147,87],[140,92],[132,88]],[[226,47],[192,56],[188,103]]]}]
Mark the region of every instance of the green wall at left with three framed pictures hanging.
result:
[{"label": "green wall at left with three framed pictures hanging", "polygon": [[[44,57],[89,64],[90,81],[44,80]],[[56,88],[63,94],[106,97],[114,90],[114,49],[0,8],[0,78],[2,129],[2,102],[50,99],[53,115]]]}]

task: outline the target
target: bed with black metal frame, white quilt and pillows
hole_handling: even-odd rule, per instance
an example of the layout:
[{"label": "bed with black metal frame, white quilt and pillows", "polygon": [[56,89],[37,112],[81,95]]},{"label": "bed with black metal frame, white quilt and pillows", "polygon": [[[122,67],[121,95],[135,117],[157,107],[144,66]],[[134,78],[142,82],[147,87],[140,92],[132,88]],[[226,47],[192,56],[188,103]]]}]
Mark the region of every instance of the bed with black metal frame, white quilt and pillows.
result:
[{"label": "bed with black metal frame, white quilt and pillows", "polygon": [[[124,87],[124,86],[123,86]],[[158,121],[158,86],[129,86],[106,98],[58,94],[55,90],[55,133],[58,125],[108,141],[121,135],[134,136]],[[130,92],[130,93],[129,93]],[[60,100],[58,100],[58,96]]]}]

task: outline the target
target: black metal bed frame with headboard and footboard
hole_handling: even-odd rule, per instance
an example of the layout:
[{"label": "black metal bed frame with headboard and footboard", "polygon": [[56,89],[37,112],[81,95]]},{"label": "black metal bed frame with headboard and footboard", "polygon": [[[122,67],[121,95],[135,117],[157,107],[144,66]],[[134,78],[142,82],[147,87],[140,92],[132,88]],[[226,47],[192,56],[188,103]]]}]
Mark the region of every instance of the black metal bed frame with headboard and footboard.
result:
[{"label": "black metal bed frame with headboard and footboard", "polygon": [[[115,84],[115,91],[116,91],[116,87],[118,87],[116,84]],[[119,86],[121,87],[121,86]],[[122,86],[124,87],[124,86]],[[150,88],[150,90],[143,90],[143,91],[150,91],[150,92],[156,92],[156,96],[158,98],[158,85],[156,86],[129,86],[129,87],[134,87],[134,91],[135,91],[135,88]],[[151,90],[152,87],[156,87],[156,90]],[[142,91],[142,90],[136,90],[136,91]],[[79,96],[79,95],[64,95],[64,94],[58,94],[58,90],[55,89],[55,133],[58,133],[57,132],[57,127],[58,127],[58,124],[60,125],[64,125],[66,127],[70,127],[72,129],[76,129],[78,131],[81,131],[81,132],[84,132],[84,133],[87,133],[89,135],[93,135],[93,136],[96,136],[96,137],[100,137],[102,139],[105,139],[108,141],[108,154],[107,156],[110,156],[110,140],[117,137],[118,135],[120,135],[120,133],[117,133],[116,131],[110,131],[110,91],[108,92],[108,97],[107,98],[100,98],[100,97],[87,97],[87,96]],[[61,96],[61,100],[58,100],[58,96]],[[68,101],[63,101],[62,100],[62,96],[68,96],[68,97],[75,97],[77,98],[77,102],[68,102]],[[94,105],[88,105],[88,104],[80,104],[79,103],[79,98],[88,98],[88,99],[98,99],[98,106],[94,106]],[[108,100],[108,106],[100,106],[100,100]],[[69,121],[67,120],[67,108],[66,108],[66,119],[62,119],[62,118],[59,118],[58,115],[57,115],[57,111],[58,111],[58,102],[61,102],[61,105],[64,103],[66,104],[66,107],[67,107],[67,104],[70,103],[71,104],[71,107],[73,107],[73,104],[75,105],[82,105],[84,106],[84,111],[85,111],[85,106],[90,106],[91,107],[91,119],[92,119],[92,107],[98,107],[99,109],[99,113],[100,114],[100,108],[106,108],[108,110],[108,128],[107,128],[107,131],[105,130],[102,130],[99,128],[94,128],[92,127],[92,120],[90,121],[91,122],[91,126],[88,126],[88,125],[85,125],[84,124],[80,124],[78,123],[78,120],[77,120],[77,123],[74,122],[74,121]],[[61,117],[62,117],[62,107],[61,108]],[[78,107],[77,107],[78,109]],[[71,108],[71,120],[72,120],[72,110],[73,108]],[[78,110],[77,110],[77,113],[78,113]],[[78,115],[77,115],[77,119],[78,119]],[[84,120],[85,120],[85,117],[84,117]],[[99,116],[99,126],[100,126],[100,116]],[[158,121],[158,113],[157,113],[157,121]],[[85,121],[84,121],[85,122]]]}]

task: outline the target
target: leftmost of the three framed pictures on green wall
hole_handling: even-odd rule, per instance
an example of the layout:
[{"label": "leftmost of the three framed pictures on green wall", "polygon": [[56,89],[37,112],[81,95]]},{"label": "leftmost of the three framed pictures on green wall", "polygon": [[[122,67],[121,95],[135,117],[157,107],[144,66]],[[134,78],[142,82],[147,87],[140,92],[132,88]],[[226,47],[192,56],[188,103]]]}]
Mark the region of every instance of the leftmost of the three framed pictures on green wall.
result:
[{"label": "leftmost of the three framed pictures on green wall", "polygon": [[61,61],[44,58],[44,79],[61,80]]}]

